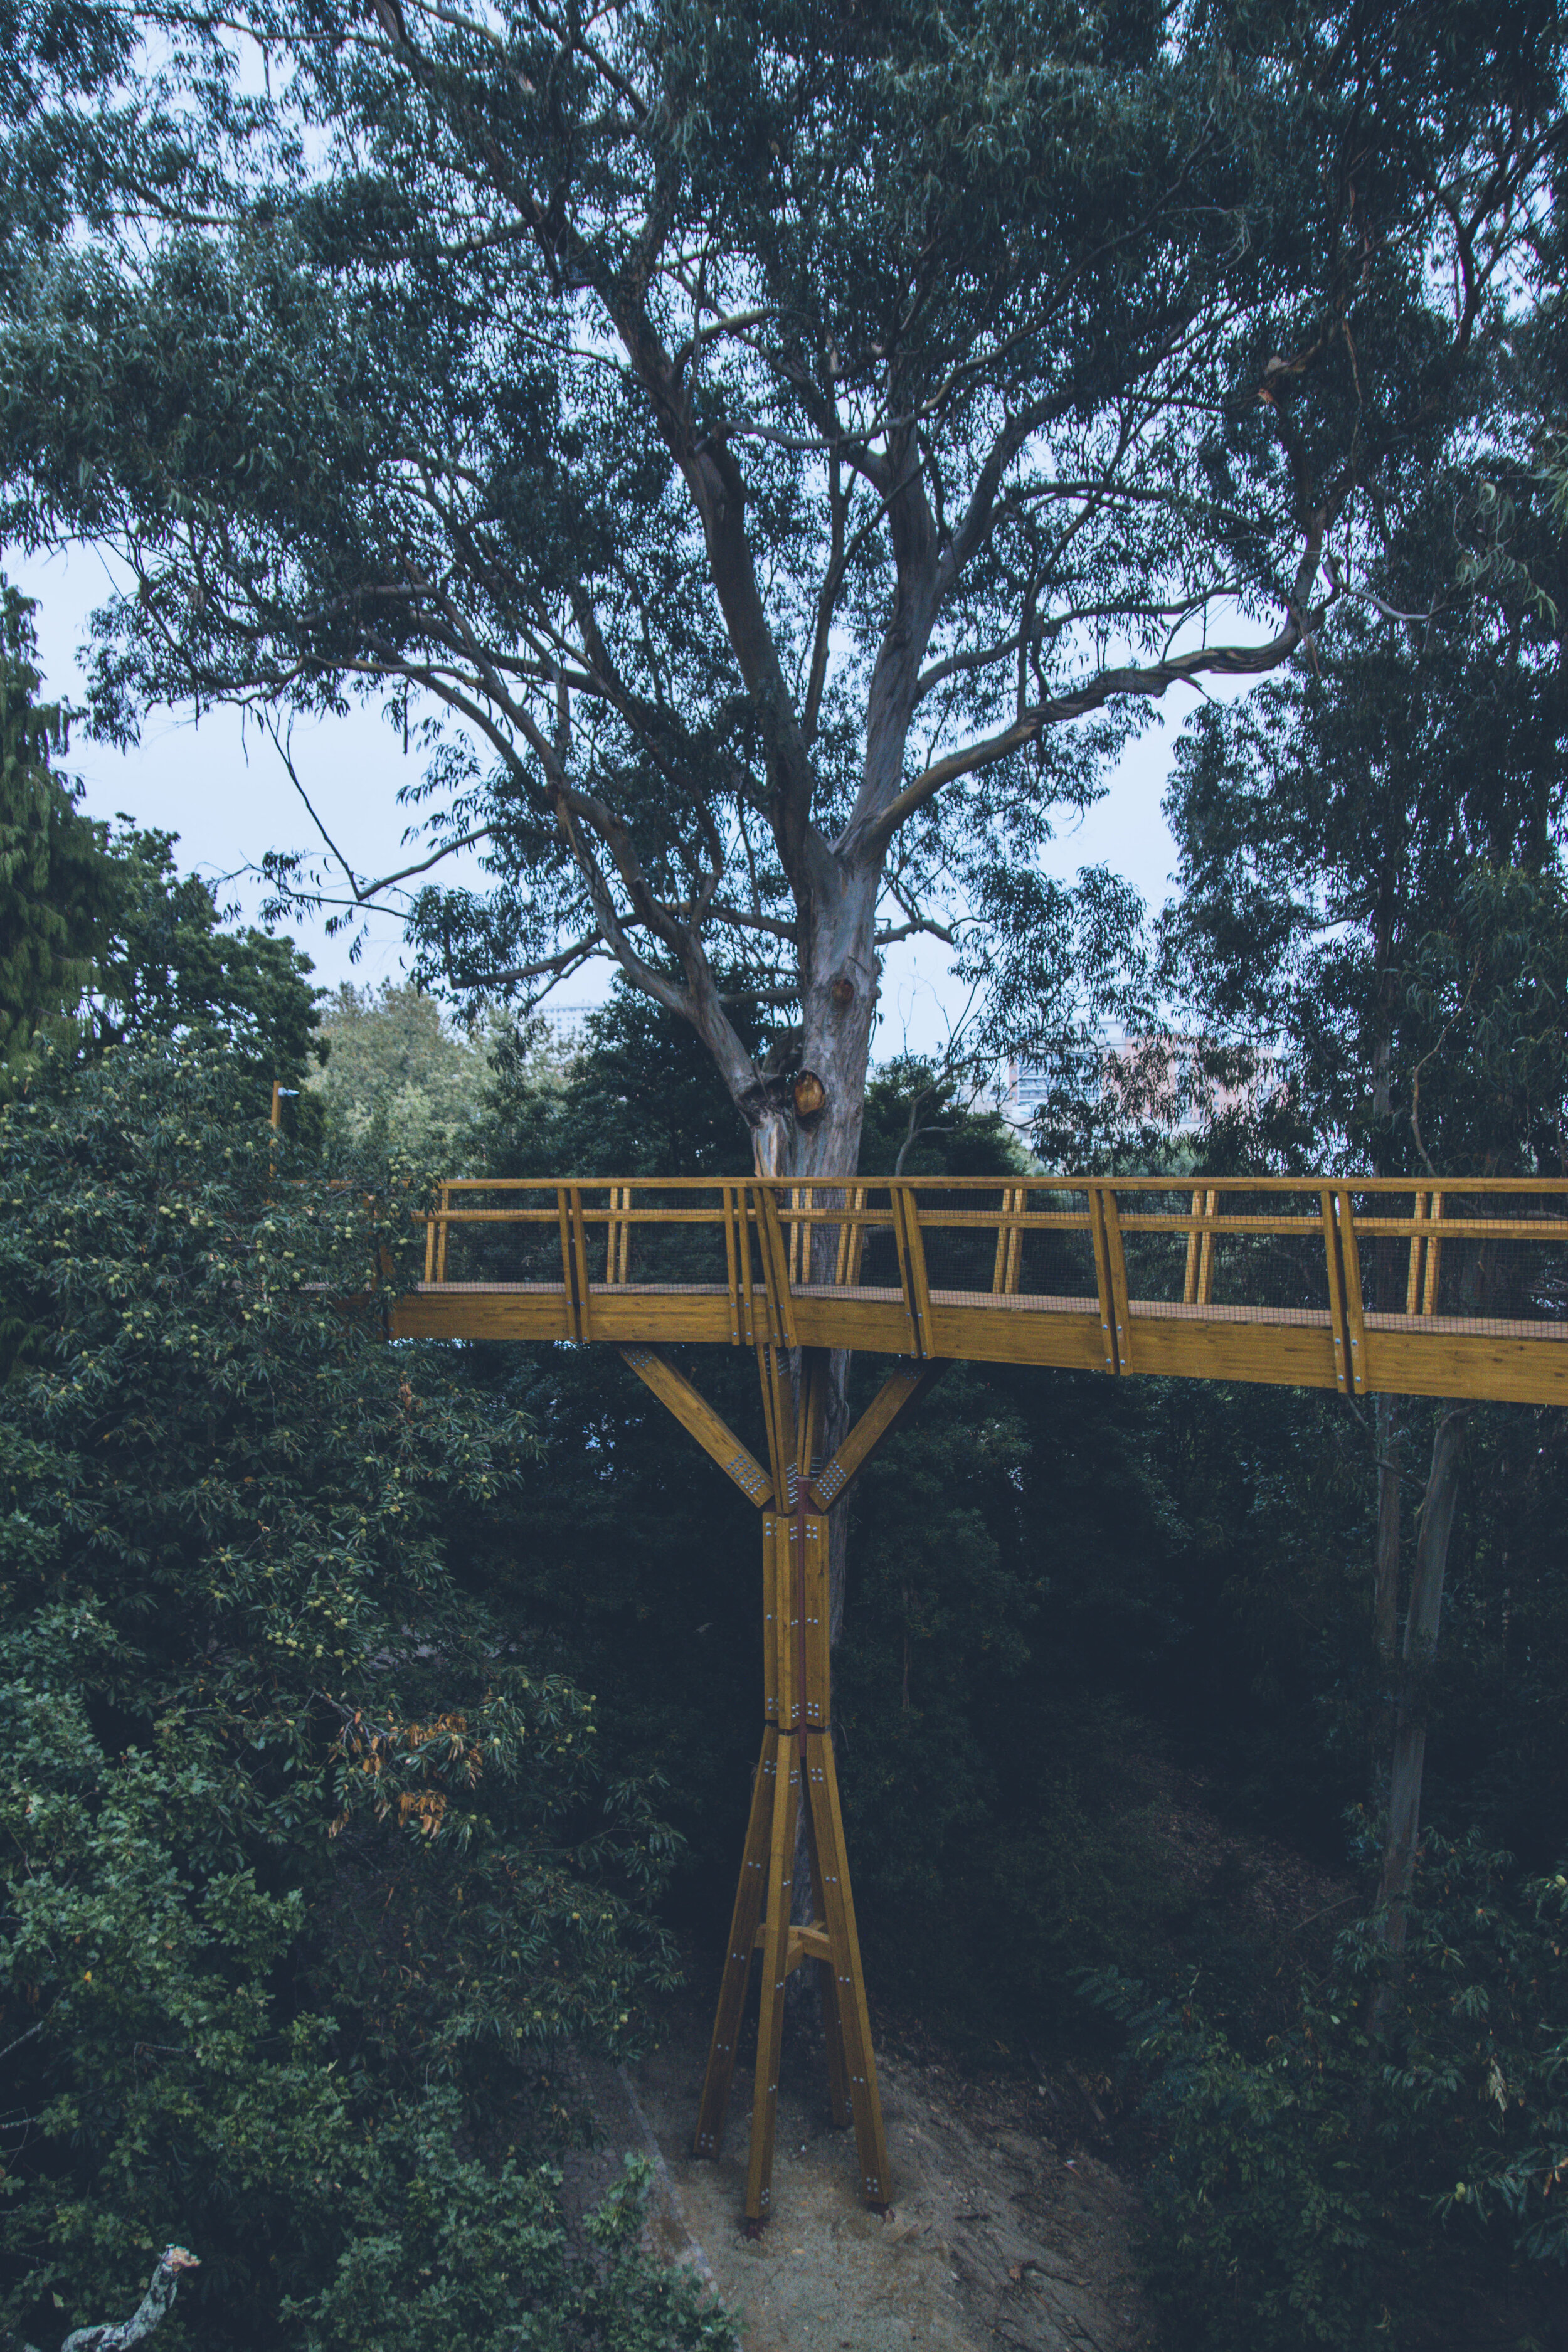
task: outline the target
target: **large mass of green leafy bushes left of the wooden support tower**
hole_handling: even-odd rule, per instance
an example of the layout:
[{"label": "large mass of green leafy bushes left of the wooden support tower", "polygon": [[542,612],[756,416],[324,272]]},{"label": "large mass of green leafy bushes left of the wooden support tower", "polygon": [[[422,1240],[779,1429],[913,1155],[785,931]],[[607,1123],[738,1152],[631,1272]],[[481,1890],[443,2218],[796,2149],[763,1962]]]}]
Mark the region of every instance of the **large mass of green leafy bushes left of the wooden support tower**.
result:
[{"label": "large mass of green leafy bushes left of the wooden support tower", "polygon": [[381,1341],[407,1204],[254,1112],[190,1049],[0,1112],[0,1282],[47,1329],[0,1390],[0,2312],[129,2310],[176,2237],[174,2340],[703,2343],[625,2204],[599,2300],[567,2277],[529,2157],[552,2051],[635,2046],[670,1976],[672,1860],[454,1576],[531,1432]]}]

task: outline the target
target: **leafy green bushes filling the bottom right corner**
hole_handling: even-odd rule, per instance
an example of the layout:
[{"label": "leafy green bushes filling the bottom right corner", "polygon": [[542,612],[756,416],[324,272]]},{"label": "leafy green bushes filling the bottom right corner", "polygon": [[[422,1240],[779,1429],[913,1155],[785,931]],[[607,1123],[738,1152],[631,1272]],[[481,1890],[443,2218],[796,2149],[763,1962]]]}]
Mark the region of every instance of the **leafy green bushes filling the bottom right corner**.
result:
[{"label": "leafy green bushes filling the bottom right corner", "polygon": [[1443,2232],[1568,2263],[1568,1877],[1427,1837],[1403,1962],[1359,1922],[1300,2018],[1246,2056],[1194,1987],[1088,1992],[1131,2030],[1164,2150],[1152,2277],[1178,2343],[1302,2352],[1410,2340]]}]

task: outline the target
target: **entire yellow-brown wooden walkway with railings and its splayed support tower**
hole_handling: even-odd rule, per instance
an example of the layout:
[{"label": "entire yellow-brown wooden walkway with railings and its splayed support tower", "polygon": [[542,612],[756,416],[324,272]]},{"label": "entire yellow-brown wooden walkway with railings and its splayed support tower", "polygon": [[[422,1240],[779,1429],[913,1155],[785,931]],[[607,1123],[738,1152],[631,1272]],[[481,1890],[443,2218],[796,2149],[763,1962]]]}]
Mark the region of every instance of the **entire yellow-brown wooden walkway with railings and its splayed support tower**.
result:
[{"label": "entire yellow-brown wooden walkway with railings and its splayed support tower", "polygon": [[[390,1329],[609,1343],[757,1505],[762,1752],[693,2150],[719,2152],[759,1955],[759,2227],[806,1964],[832,2119],[853,2122],[865,2199],[893,2194],[832,1755],[827,1515],[856,1472],[959,1357],[1568,1404],[1568,1181],[449,1183]],[[691,1341],[755,1350],[766,1461],[663,1352]],[[898,1362],[827,1444],[835,1348]]]}]

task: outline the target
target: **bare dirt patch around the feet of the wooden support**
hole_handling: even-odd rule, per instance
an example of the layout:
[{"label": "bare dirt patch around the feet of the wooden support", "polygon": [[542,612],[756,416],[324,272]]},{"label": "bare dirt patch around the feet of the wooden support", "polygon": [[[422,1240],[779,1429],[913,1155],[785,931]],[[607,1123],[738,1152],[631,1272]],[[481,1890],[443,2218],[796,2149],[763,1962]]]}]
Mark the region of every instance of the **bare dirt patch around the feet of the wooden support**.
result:
[{"label": "bare dirt patch around the feet of the wooden support", "polygon": [[621,2150],[656,2159],[658,2251],[698,2267],[741,2321],[745,2352],[1140,2352],[1152,2326],[1131,2263],[1135,2194],[1077,2131],[1095,2136],[1093,2086],[966,2082],[940,2058],[879,2053],[893,2206],[856,2194],[853,2133],[835,2131],[820,2046],[785,2049],[773,2218],[743,2230],[750,2077],[736,2070],[717,2164],[689,2154],[708,2056],[696,2009],[635,2067],[585,2067],[604,2131],[576,2157],[588,2201]]}]

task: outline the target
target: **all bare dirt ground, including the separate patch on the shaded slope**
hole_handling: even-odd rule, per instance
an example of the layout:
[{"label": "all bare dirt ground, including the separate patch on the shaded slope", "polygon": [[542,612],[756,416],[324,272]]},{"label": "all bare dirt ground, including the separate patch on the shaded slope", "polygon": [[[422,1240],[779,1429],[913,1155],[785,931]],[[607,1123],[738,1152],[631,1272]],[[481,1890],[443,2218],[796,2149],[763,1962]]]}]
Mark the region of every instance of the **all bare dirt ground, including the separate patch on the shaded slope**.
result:
[{"label": "all bare dirt ground, including the separate patch on the shaded slope", "polygon": [[[1222,1828],[1201,1778],[1150,1771],[1147,1828],[1178,1903],[1222,1924],[1260,2002],[1321,1964],[1354,1886],[1286,1846]],[[701,1969],[696,1971],[701,1976]],[[656,2164],[651,2237],[691,2263],[741,2321],[743,2352],[1152,2352],[1154,2319],[1133,2265],[1147,2161],[1105,2079],[976,2074],[917,2027],[877,2051],[893,2209],[856,2194],[849,2131],[827,2119],[820,2037],[792,2018],[778,2096],[773,2218],[743,2230],[752,2025],[743,2034],[717,2164],[691,2159],[708,2058],[696,1990],[665,2016],[642,2065],[585,2065],[602,2145],[569,2164],[569,2201],[592,2201],[621,2161]],[[1128,2129],[1131,2126],[1131,2129]],[[1107,2161],[1121,2154],[1124,2171]]]}]

